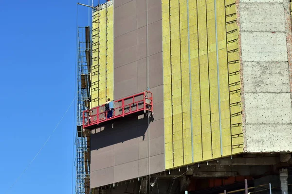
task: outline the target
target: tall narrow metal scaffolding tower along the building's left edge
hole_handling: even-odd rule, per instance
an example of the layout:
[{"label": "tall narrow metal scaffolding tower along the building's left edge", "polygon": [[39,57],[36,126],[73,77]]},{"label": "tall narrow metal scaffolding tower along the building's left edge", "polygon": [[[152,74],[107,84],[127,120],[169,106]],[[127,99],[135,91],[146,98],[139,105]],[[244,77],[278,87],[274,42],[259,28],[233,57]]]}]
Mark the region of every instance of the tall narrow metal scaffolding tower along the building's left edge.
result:
[{"label": "tall narrow metal scaffolding tower along the building's left edge", "polygon": [[77,29],[76,194],[90,193],[90,133],[82,129],[82,113],[90,106],[91,28]]}]

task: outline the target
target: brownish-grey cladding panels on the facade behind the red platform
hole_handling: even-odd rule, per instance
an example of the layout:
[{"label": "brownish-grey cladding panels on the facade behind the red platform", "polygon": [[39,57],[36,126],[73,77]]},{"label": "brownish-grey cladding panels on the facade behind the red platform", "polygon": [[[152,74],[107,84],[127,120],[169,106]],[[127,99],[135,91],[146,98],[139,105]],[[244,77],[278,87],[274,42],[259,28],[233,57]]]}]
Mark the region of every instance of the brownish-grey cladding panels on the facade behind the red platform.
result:
[{"label": "brownish-grey cladding panels on the facade behind the red platform", "polygon": [[114,1],[113,29],[114,79],[108,85],[113,93],[107,96],[143,92],[148,81],[155,114],[124,117],[92,130],[91,188],[165,169],[161,1],[148,0],[147,28],[145,0]]}]

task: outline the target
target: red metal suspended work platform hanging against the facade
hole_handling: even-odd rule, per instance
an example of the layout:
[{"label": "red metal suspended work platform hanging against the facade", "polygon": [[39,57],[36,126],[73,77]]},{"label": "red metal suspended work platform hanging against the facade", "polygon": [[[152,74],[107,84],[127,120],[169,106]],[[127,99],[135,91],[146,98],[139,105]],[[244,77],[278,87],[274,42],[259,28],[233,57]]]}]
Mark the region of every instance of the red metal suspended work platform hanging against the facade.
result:
[{"label": "red metal suspended work platform hanging against the facade", "polygon": [[[135,97],[136,99],[138,97],[143,97],[143,99],[135,101]],[[125,101],[131,101],[131,99],[131,103],[125,104]],[[94,129],[97,128],[97,125],[99,125],[100,123],[141,111],[144,111],[144,113],[151,112],[153,114],[153,97],[152,93],[149,91],[144,91],[133,96],[115,100],[114,104],[122,104],[122,106],[114,107],[111,110],[112,117],[110,118],[108,118],[109,111],[102,112],[102,110],[105,108],[104,104],[94,107],[90,110],[83,111],[83,128]],[[95,114],[93,114],[94,112]]]}]

